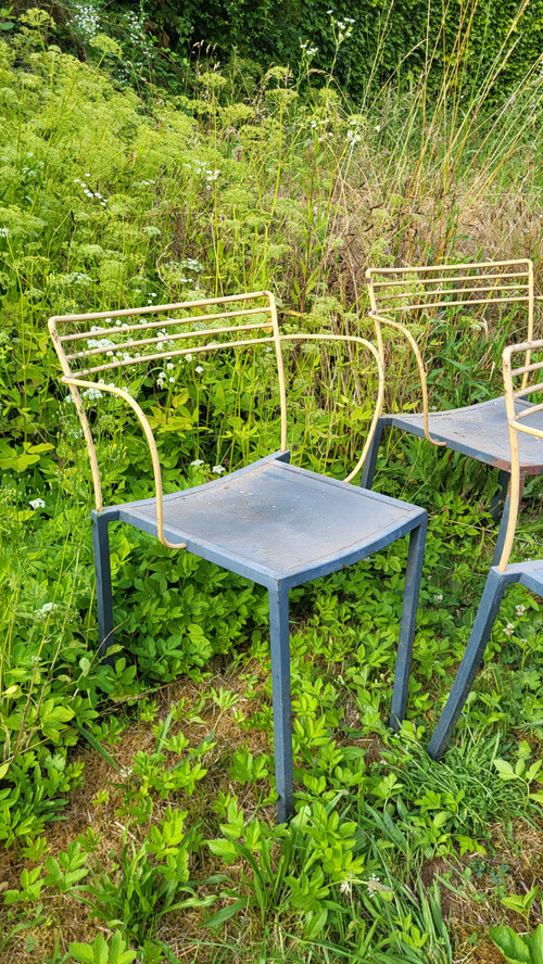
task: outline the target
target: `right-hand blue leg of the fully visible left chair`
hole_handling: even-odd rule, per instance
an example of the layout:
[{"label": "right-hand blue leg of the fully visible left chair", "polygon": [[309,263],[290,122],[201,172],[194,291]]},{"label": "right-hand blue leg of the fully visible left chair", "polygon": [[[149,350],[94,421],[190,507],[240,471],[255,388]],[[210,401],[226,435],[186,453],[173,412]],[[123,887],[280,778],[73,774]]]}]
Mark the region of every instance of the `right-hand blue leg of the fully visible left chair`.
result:
[{"label": "right-hand blue leg of the fully visible left chair", "polygon": [[390,725],[392,730],[400,730],[407,703],[413,639],[415,636],[418,595],[425,558],[426,529],[427,522],[425,519],[420,525],[417,525],[417,528],[412,531],[409,537],[396,669],[394,673],[394,689],[392,692],[392,706],[390,710]]}]

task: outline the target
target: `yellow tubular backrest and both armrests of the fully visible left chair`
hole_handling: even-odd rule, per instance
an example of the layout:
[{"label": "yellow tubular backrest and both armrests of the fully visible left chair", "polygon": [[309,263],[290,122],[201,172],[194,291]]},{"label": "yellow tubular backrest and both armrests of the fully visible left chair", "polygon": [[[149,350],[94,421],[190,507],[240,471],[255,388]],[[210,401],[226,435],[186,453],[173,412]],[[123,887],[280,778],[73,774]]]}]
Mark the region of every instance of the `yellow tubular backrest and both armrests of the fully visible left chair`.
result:
[{"label": "yellow tubular backrest and both armrests of the fully visible left chair", "polygon": [[[61,363],[62,381],[70,386],[81,421],[92,469],[97,509],[100,511],[103,507],[100,469],[83,399],[85,395],[92,398],[93,394],[99,397],[101,393],[109,393],[123,398],[129,405],[143,430],[153,465],[157,534],[161,542],[169,548],[185,546],[168,543],[164,535],[162,473],[151,426],[128,390],[109,381],[112,377],[118,377],[119,372],[129,373],[135,366],[140,365],[149,366],[160,362],[167,366],[169,359],[175,357],[253,345],[273,347],[279,390],[280,447],[286,451],[287,397],[282,343],[334,341],[363,345],[375,358],[379,389],[368,439],[346,481],[351,481],[359,471],[382,409],[384,381],[375,346],[354,335],[281,334],[275,299],[268,291],[116,312],[54,316],[49,319],[49,330]],[[80,390],[85,390],[83,397]]]}]

